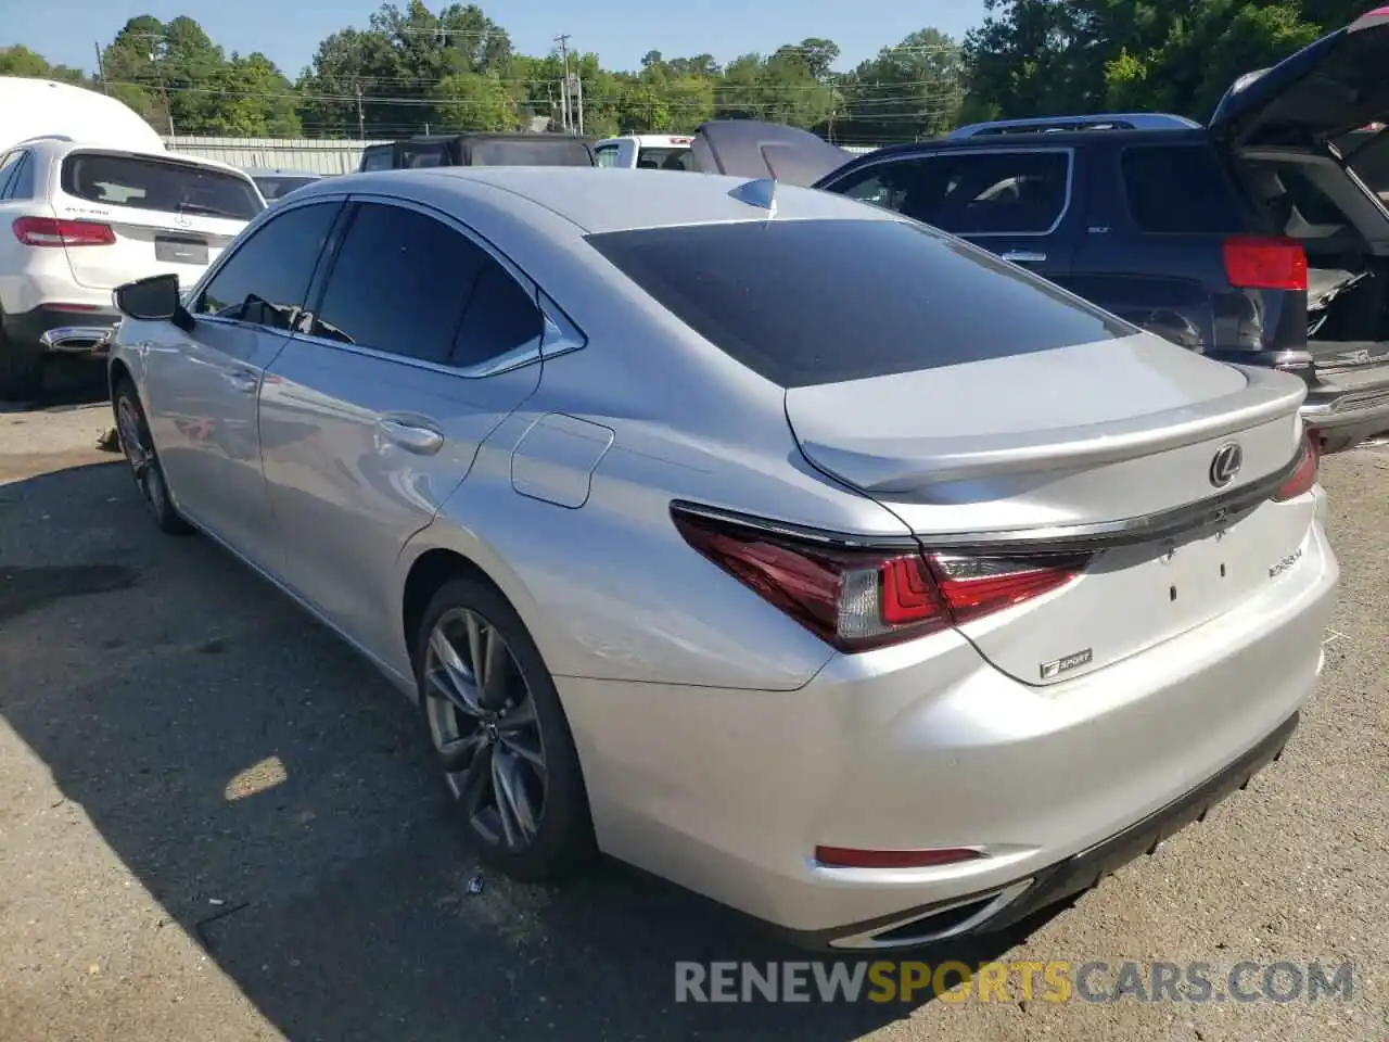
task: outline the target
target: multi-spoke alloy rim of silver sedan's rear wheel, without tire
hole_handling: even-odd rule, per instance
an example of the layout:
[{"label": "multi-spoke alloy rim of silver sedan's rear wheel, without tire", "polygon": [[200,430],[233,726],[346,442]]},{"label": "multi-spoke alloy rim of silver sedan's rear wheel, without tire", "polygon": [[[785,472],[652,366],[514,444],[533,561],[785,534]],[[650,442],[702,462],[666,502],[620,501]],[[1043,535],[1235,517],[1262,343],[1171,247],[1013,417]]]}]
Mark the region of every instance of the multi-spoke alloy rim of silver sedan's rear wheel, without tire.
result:
[{"label": "multi-spoke alloy rim of silver sedan's rear wheel, without tire", "polygon": [[444,613],[424,681],[429,736],[469,824],[494,846],[528,849],[549,775],[535,699],[506,638],[476,611]]}]

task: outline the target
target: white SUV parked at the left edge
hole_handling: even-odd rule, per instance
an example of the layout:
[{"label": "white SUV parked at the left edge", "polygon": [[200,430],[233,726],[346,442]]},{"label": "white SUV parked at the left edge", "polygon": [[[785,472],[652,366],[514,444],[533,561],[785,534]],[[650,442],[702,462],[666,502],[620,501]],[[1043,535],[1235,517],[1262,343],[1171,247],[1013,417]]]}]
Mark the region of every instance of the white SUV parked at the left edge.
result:
[{"label": "white SUV parked at the left edge", "polygon": [[192,285],[264,208],[213,160],[58,136],[0,154],[0,399],[33,397],[56,352],[104,354],[113,289],[163,272]]}]

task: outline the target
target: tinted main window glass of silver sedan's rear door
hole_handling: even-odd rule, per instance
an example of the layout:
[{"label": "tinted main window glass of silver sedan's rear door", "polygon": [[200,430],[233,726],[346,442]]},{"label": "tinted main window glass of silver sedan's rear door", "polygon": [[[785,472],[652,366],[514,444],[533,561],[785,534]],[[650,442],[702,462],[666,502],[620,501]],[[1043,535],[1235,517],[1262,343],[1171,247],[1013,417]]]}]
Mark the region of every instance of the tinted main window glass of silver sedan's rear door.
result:
[{"label": "tinted main window glass of silver sedan's rear door", "polygon": [[486,253],[415,210],[358,207],[328,275],[319,336],[447,363]]}]

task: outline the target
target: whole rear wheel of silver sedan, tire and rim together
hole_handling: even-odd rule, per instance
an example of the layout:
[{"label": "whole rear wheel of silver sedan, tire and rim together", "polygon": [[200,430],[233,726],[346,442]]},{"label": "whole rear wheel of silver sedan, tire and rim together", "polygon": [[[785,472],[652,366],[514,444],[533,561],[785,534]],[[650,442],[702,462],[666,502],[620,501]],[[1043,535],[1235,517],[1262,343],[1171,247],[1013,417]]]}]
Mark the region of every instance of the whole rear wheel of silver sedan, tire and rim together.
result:
[{"label": "whole rear wheel of silver sedan, tire and rim together", "polygon": [[453,579],[425,611],[415,681],[449,793],[482,859],[526,881],[594,853],[583,774],[540,652],[507,600]]}]

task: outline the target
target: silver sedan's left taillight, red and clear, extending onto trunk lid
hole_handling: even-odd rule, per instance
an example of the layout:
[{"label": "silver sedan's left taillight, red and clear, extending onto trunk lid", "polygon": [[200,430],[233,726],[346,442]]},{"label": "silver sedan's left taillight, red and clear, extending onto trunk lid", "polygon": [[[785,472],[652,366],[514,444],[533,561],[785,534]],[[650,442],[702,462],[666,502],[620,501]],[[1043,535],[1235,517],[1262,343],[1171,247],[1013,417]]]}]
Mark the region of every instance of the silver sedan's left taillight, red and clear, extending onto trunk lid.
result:
[{"label": "silver sedan's left taillight, red and clear, extending onto trunk lid", "polygon": [[885,647],[1003,611],[1064,586],[1089,561],[1088,554],[849,547],[681,506],[671,517],[685,542],[842,652]]}]

